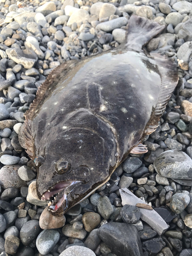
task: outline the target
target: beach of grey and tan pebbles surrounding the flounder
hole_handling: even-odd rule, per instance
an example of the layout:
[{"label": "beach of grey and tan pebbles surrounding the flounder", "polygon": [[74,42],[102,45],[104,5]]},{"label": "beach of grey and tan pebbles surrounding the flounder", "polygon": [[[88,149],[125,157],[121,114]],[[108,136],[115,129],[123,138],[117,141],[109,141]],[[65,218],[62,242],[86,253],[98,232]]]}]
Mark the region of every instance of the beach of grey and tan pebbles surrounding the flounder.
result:
[{"label": "beach of grey and tan pebbles surrounding the flounder", "polygon": [[[132,14],[165,25],[146,50],[177,63],[178,85],[144,138],[148,152],[130,154],[93,195],[54,217],[37,197],[35,164],[19,144],[24,114],[62,63],[124,42]],[[1,256],[192,255],[191,41],[192,1],[1,0]]]}]

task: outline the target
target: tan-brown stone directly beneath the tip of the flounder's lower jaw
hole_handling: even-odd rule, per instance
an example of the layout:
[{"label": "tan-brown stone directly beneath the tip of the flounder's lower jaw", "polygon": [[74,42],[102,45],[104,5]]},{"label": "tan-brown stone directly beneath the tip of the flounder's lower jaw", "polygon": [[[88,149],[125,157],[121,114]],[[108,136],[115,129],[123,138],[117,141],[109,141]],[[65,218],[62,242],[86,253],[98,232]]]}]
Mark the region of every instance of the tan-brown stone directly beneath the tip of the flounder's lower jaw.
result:
[{"label": "tan-brown stone directly beneath the tip of the flounder's lower jaw", "polygon": [[60,217],[53,216],[48,211],[48,206],[42,211],[39,219],[39,226],[42,229],[52,229],[63,227],[66,223],[65,215]]}]

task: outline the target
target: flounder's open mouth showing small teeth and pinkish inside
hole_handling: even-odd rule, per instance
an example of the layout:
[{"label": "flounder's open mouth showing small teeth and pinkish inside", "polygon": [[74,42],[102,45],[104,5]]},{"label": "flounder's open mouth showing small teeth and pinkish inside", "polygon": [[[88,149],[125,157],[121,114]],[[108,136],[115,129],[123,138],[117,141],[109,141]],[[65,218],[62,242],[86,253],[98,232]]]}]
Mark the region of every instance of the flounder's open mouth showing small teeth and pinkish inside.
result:
[{"label": "flounder's open mouth showing small teeth and pinkish inside", "polygon": [[50,200],[48,203],[49,211],[54,214],[58,211],[60,206],[63,205],[63,203],[65,203],[66,207],[68,206],[67,195],[70,193],[67,193],[67,188],[79,182],[81,181],[70,180],[57,183],[42,195],[41,201]]}]

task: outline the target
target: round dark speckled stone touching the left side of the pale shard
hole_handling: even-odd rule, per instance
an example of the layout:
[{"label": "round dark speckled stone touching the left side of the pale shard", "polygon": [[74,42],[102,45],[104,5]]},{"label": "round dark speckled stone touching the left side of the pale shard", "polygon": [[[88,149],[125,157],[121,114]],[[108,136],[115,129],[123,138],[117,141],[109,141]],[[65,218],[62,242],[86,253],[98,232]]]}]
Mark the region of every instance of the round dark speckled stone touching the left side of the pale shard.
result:
[{"label": "round dark speckled stone touching the left side of the pale shard", "polygon": [[135,224],[139,221],[141,212],[137,206],[125,204],[120,211],[120,216],[125,223]]}]

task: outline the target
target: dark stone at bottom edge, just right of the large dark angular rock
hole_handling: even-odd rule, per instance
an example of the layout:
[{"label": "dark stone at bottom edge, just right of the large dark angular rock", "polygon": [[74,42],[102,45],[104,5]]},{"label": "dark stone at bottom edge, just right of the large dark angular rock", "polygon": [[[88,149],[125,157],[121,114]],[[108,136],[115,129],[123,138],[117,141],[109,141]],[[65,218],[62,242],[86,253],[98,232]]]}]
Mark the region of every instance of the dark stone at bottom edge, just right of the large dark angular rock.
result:
[{"label": "dark stone at bottom edge, just right of the large dark angular rock", "polygon": [[162,238],[154,238],[142,243],[143,251],[148,252],[148,256],[155,256],[159,253],[164,247],[165,242]]}]

